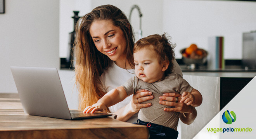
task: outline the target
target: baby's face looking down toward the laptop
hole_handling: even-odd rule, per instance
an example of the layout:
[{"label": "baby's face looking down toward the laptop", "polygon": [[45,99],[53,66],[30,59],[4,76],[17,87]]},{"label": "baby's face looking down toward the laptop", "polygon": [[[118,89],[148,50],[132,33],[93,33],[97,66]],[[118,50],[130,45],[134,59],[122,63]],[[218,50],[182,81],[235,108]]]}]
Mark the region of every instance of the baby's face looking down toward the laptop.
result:
[{"label": "baby's face looking down toward the laptop", "polygon": [[157,53],[150,49],[140,49],[133,53],[136,76],[147,82],[154,83],[164,78],[163,65],[159,63]]}]

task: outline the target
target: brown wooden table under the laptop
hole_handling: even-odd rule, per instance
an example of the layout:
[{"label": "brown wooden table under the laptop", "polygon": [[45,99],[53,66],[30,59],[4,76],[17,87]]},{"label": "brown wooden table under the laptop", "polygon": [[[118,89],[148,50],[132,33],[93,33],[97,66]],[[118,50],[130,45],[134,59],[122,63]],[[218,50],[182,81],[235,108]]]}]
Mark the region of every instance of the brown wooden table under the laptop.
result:
[{"label": "brown wooden table under the laptop", "polygon": [[146,126],[111,117],[64,120],[24,113],[17,94],[0,93],[0,139],[146,139]]}]

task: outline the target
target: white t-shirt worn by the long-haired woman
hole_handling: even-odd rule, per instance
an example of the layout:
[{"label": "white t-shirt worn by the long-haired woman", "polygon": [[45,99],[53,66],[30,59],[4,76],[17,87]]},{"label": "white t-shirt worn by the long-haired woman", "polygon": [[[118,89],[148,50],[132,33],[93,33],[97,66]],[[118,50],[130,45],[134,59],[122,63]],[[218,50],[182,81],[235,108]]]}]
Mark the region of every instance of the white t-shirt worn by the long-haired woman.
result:
[{"label": "white t-shirt worn by the long-haired woman", "polygon": [[[173,72],[183,76],[180,66],[178,65],[176,60],[173,63],[174,63]],[[135,75],[134,70],[126,70],[126,69],[120,68],[113,62],[112,65],[109,66],[109,68],[105,70],[104,73],[102,73],[102,75],[100,76],[100,80],[102,81],[103,88],[105,89],[104,91],[109,92],[110,90],[126,83],[126,81],[132,78],[134,75]],[[120,108],[125,107],[125,105],[131,102],[131,100],[132,100],[132,95],[125,98],[125,100],[123,100],[122,102],[119,102],[116,105],[109,107],[109,111],[111,113],[114,113],[118,111]],[[137,119],[138,119],[138,113],[133,115],[127,122],[131,122],[131,123],[137,122]]]}]

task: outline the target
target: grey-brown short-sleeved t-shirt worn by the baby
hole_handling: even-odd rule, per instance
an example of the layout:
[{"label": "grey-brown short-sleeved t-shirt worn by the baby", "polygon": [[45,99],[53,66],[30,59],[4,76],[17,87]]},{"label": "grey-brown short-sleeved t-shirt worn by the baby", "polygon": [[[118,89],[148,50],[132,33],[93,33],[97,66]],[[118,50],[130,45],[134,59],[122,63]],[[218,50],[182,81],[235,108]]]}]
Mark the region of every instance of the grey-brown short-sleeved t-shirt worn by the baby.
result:
[{"label": "grey-brown short-sleeved t-shirt worn by the baby", "polygon": [[159,104],[159,97],[163,93],[183,93],[191,92],[192,86],[177,73],[171,73],[166,76],[164,80],[154,83],[147,83],[140,80],[137,76],[130,78],[122,85],[127,95],[132,95],[138,90],[147,89],[152,92],[154,98],[142,103],[152,103],[152,106],[140,109],[138,119],[144,122],[152,122],[154,124],[163,125],[177,130],[179,114],[178,112],[165,112],[164,108],[171,108],[171,106]]}]

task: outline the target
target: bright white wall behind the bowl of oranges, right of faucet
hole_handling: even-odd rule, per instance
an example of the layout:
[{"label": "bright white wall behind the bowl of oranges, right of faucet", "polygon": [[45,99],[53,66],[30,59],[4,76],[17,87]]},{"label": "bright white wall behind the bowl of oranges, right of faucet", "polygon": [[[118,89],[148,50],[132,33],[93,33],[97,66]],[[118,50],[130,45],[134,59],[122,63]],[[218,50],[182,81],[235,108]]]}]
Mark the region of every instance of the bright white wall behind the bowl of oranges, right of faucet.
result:
[{"label": "bright white wall behind the bowl of oranges, right of faucet", "polygon": [[180,49],[195,43],[208,50],[208,37],[224,36],[224,58],[242,59],[242,33],[256,30],[256,2],[163,0],[163,31]]}]

